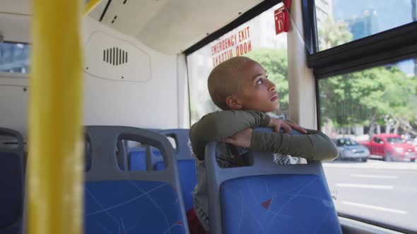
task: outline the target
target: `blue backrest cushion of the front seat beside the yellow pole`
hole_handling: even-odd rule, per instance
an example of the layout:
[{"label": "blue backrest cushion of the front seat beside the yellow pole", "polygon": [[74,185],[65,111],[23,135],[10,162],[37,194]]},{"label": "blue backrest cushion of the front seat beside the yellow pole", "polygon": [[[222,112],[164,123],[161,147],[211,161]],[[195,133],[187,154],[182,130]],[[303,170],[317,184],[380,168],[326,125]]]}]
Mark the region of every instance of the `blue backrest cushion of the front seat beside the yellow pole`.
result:
[{"label": "blue backrest cushion of the front seat beside the yellow pole", "polygon": [[85,233],[185,233],[177,193],[145,180],[86,183]]}]

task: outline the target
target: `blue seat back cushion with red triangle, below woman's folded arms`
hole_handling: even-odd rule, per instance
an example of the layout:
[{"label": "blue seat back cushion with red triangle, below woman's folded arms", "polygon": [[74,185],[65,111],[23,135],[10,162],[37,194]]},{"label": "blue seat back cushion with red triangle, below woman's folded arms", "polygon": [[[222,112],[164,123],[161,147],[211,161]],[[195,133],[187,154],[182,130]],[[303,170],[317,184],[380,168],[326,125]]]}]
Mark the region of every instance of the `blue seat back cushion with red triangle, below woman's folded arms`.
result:
[{"label": "blue seat back cushion with red triangle, below woman's folded arms", "polygon": [[316,175],[247,176],[221,185],[223,233],[341,233]]}]

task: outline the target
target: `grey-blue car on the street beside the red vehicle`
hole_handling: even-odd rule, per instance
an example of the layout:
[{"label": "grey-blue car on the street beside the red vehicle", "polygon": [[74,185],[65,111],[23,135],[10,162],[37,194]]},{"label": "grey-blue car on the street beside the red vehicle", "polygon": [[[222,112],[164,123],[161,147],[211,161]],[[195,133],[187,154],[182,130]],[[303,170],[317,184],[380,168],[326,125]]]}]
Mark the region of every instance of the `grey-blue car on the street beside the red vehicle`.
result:
[{"label": "grey-blue car on the street beside the red vehicle", "polygon": [[341,137],[334,140],[339,151],[339,160],[361,160],[368,161],[369,149],[349,137]]}]

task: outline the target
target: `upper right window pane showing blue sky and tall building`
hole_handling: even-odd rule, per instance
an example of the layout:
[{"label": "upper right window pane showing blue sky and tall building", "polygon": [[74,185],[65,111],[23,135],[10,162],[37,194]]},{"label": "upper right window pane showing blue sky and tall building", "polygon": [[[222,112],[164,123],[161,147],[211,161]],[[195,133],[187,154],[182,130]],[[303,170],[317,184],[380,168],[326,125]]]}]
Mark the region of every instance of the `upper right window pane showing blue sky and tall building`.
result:
[{"label": "upper right window pane showing blue sky and tall building", "polygon": [[416,0],[315,0],[319,50],[416,21]]}]

